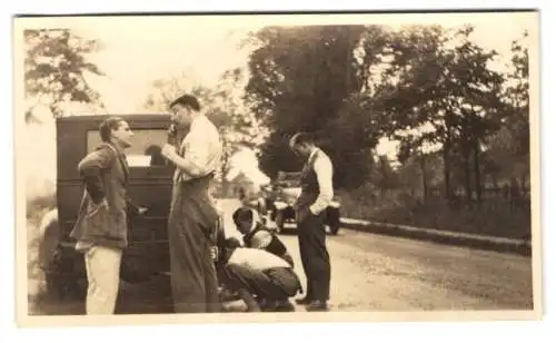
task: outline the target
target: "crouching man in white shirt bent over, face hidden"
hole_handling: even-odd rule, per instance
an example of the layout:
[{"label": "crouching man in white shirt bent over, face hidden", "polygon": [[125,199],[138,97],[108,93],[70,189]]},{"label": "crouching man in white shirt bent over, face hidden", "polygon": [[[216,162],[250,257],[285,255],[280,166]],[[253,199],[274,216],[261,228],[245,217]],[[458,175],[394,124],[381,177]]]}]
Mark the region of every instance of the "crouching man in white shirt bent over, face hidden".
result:
[{"label": "crouching man in white shirt bent over, face hidden", "polygon": [[294,311],[289,297],[301,284],[286,261],[264,249],[241,247],[234,237],[226,239],[222,257],[221,283],[246,303],[248,312]]}]

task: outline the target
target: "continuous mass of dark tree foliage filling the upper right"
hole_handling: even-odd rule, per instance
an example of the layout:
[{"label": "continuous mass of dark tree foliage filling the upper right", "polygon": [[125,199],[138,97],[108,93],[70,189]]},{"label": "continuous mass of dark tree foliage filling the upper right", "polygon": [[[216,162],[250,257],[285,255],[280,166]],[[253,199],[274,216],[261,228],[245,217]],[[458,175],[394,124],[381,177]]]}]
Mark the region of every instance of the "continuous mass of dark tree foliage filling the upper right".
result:
[{"label": "continuous mass of dark tree foliage filling the upper right", "polygon": [[[399,161],[425,174],[426,156],[440,153],[448,200],[463,187],[469,202],[480,202],[485,174],[519,158],[504,156],[503,144],[528,154],[528,61],[516,42],[513,74],[496,71],[498,53],[475,43],[473,33],[471,26],[267,27],[254,33],[246,102],[271,131],[261,168],[270,177],[298,169],[287,140],[305,130],[331,156],[336,185],[357,187],[380,175],[384,160],[376,163],[373,149],[388,137],[399,141]],[[514,84],[505,89],[508,79]],[[424,188],[428,182],[425,175]]]}]

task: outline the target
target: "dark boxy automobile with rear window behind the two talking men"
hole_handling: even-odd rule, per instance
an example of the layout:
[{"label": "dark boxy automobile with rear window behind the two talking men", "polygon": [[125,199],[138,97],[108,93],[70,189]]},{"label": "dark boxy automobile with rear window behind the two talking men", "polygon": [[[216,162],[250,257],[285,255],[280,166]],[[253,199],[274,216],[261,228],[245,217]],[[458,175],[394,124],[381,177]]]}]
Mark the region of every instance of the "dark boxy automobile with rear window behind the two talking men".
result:
[{"label": "dark boxy automobile with rear window behind the two talking men", "polygon": [[[121,278],[128,283],[148,282],[169,275],[167,220],[170,206],[173,166],[161,157],[170,125],[168,115],[120,116],[133,131],[127,150],[128,192],[133,203],[147,207],[146,214],[129,217],[128,241],[121,262]],[[83,192],[77,166],[86,154],[100,144],[98,128],[106,116],[71,116],[57,119],[57,225],[59,237],[43,266],[49,292],[59,296],[78,292],[87,285],[83,257],[76,253],[69,234],[76,222]],[[224,241],[221,220],[215,224],[215,241]]]}]

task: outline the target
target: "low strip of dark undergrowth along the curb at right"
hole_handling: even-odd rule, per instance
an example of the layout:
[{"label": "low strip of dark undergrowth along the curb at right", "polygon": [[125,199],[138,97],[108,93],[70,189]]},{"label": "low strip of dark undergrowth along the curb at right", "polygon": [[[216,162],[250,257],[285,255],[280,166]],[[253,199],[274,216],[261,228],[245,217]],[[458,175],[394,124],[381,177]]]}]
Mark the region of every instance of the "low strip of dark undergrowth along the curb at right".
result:
[{"label": "low strip of dark undergrowth along the curb at right", "polygon": [[508,200],[494,197],[480,206],[448,206],[438,196],[424,203],[405,190],[380,194],[369,184],[353,192],[340,190],[337,196],[342,216],[349,218],[508,238],[530,237],[528,202],[510,207]]}]

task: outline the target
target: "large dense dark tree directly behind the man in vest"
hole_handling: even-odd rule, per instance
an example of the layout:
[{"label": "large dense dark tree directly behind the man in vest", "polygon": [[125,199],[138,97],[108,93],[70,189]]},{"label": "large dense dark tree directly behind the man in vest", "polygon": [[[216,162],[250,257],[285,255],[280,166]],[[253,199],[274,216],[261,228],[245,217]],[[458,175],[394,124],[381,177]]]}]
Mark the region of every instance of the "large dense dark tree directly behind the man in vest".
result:
[{"label": "large dense dark tree directly behind the man in vest", "polygon": [[267,175],[299,167],[287,141],[302,130],[330,155],[337,186],[356,187],[367,178],[377,112],[365,110],[368,95],[359,95],[371,91],[368,78],[387,37],[364,26],[268,27],[251,36],[246,101],[271,131],[259,155]]}]

